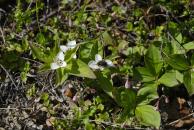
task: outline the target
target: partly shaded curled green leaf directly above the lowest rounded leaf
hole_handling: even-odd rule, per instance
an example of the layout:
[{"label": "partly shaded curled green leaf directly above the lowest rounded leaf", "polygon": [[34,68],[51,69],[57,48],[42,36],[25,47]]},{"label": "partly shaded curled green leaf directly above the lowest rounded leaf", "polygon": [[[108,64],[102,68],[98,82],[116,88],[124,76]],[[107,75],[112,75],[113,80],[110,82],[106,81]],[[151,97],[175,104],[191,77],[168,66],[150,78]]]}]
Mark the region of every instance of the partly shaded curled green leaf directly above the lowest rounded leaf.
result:
[{"label": "partly shaded curled green leaf directly above the lowest rounded leaf", "polygon": [[158,85],[156,82],[145,84],[145,86],[137,93],[138,104],[146,105],[158,98],[157,87]]}]

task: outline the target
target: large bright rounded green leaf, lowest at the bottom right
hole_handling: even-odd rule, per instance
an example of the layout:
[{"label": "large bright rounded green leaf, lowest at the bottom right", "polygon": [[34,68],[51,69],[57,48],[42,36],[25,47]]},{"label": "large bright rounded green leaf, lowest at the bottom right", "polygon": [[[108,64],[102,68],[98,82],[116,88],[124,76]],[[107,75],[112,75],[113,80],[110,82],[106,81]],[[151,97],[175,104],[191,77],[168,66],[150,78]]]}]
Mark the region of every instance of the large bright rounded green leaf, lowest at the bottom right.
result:
[{"label": "large bright rounded green leaf, lowest at the bottom right", "polygon": [[160,127],[160,113],[155,110],[155,107],[150,105],[137,106],[135,116],[141,124],[146,126],[153,126],[157,129]]}]

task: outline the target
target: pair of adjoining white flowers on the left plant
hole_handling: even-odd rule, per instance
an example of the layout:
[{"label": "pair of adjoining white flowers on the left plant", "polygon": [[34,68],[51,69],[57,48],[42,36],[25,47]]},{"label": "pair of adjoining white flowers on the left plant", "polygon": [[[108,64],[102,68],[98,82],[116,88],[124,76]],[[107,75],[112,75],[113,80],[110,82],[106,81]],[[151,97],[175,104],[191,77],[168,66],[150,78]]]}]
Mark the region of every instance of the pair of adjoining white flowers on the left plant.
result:
[{"label": "pair of adjoining white flowers on the left plant", "polygon": [[[67,45],[61,45],[60,46],[60,51],[57,54],[57,56],[54,59],[54,62],[51,63],[50,67],[52,70],[61,68],[61,67],[66,67],[67,63],[65,62],[65,53],[70,50],[74,49],[76,47],[76,41],[69,41]],[[77,58],[76,55],[73,56],[73,58]]]}]

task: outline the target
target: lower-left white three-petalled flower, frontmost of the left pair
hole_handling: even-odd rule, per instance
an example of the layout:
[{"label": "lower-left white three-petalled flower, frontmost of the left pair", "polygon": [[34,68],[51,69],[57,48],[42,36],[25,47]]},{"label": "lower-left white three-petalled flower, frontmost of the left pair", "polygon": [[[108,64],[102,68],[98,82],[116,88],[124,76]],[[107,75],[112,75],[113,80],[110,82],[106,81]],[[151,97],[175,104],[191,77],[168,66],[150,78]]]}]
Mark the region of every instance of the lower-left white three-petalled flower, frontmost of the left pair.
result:
[{"label": "lower-left white three-petalled flower, frontmost of the left pair", "polygon": [[67,63],[64,61],[64,58],[65,58],[65,56],[64,56],[63,52],[60,51],[60,52],[57,54],[57,56],[56,56],[54,62],[51,63],[51,69],[52,69],[52,70],[55,70],[55,69],[58,69],[58,68],[60,68],[60,67],[65,67],[65,66],[67,66]]}]

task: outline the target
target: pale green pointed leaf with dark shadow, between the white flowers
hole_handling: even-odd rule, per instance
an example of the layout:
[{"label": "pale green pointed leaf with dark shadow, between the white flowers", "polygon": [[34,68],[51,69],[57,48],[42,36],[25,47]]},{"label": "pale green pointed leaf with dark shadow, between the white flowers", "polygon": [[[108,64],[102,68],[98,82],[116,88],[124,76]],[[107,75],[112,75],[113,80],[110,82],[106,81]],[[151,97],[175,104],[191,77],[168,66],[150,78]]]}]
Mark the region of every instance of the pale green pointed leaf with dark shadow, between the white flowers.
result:
[{"label": "pale green pointed leaf with dark shadow, between the white flowers", "polygon": [[91,78],[91,79],[96,78],[95,74],[89,68],[89,66],[79,59],[72,60],[68,64],[67,69],[69,70],[68,73],[72,74],[72,75],[76,75],[79,77]]}]

